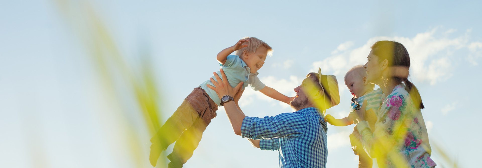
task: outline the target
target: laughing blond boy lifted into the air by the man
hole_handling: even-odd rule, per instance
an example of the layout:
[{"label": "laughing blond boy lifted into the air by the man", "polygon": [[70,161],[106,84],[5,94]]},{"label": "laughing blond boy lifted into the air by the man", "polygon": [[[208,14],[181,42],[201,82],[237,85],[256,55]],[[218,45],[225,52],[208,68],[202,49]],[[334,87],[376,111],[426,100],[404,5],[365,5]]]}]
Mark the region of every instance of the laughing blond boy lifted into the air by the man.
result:
[{"label": "laughing blond boy lifted into the air by the man", "polygon": [[[237,51],[236,55],[229,55],[234,51]],[[284,96],[275,89],[265,86],[257,77],[257,71],[263,67],[268,53],[271,52],[272,48],[260,39],[245,37],[234,46],[219,52],[217,60],[231,86],[235,87],[243,82],[243,89],[249,85],[255,91],[260,91],[271,98],[289,104],[294,97]],[[221,76],[219,71],[217,73]],[[173,152],[167,156],[171,161],[168,167],[181,168],[197,148],[202,132],[209,125],[211,119],[216,117],[217,107],[222,106],[223,102],[233,100],[233,97],[219,99],[216,92],[208,88],[207,84],[213,85],[208,80],[203,82],[200,87],[194,88],[151,139],[149,160],[152,166],[156,166],[161,152],[176,141]]]}]

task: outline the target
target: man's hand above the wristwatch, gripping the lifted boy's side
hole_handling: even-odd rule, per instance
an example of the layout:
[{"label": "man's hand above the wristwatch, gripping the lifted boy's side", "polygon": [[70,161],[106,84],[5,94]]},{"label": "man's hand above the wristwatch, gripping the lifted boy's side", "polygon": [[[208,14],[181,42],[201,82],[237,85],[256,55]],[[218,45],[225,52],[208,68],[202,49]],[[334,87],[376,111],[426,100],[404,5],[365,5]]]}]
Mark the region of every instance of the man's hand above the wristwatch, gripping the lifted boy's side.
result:
[{"label": "man's hand above the wristwatch, gripping the lifted boy's side", "polygon": [[214,86],[212,86],[211,84],[208,84],[207,86],[210,89],[213,89],[220,99],[226,95],[231,97],[235,96],[240,91],[243,82],[240,82],[236,87],[233,88],[231,85],[229,85],[228,78],[226,77],[223,69],[220,69],[219,71],[221,72],[221,76],[223,76],[224,81],[221,80],[221,78],[219,77],[219,75],[217,75],[216,72],[214,72],[214,77],[217,81],[219,81],[219,83],[214,81],[213,78],[210,78],[211,83],[213,83]]}]

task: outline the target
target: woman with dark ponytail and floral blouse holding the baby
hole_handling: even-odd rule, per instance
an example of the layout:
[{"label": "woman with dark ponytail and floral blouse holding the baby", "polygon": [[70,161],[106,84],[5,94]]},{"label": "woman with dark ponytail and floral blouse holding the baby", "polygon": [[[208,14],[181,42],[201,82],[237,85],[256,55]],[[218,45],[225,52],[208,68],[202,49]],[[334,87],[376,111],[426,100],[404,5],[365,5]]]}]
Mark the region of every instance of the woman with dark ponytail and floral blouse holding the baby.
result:
[{"label": "woman with dark ponytail and floral blouse holding the baby", "polygon": [[[407,49],[394,41],[378,41],[363,65],[367,82],[380,86],[383,103],[375,111],[377,121],[371,130],[365,121],[365,108],[357,111],[358,125],[353,133],[380,168],[433,168],[431,148],[420,109],[420,94],[408,81],[410,57]],[[366,103],[363,103],[365,105]],[[358,131],[358,132],[357,132]]]}]

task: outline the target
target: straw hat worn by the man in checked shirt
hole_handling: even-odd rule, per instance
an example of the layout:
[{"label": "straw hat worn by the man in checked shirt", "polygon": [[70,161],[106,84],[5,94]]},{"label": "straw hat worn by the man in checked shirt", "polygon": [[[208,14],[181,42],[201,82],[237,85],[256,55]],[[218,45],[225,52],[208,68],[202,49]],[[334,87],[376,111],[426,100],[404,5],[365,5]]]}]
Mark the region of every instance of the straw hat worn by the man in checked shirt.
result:
[{"label": "straw hat worn by the man in checked shirt", "polygon": [[318,68],[318,75],[318,82],[323,87],[323,92],[326,95],[326,109],[338,105],[340,103],[340,93],[338,93],[338,81],[335,75],[323,75],[321,74],[321,68]]}]

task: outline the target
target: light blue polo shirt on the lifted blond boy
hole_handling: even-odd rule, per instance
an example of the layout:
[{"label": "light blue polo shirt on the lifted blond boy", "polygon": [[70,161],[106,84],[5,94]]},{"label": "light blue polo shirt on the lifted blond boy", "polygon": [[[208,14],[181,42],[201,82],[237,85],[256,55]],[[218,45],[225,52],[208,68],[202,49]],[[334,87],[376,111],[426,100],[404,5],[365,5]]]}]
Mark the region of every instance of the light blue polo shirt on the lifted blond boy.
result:
[{"label": "light blue polo shirt on the lifted blond boy", "polygon": [[[221,65],[221,68],[224,70],[224,73],[226,74],[226,77],[228,77],[229,84],[233,87],[236,87],[240,82],[244,82],[243,86],[241,89],[244,89],[248,85],[251,86],[254,91],[261,90],[265,88],[265,84],[263,84],[259,78],[258,78],[258,72],[256,73],[250,73],[250,68],[246,63],[244,63],[243,60],[237,55],[229,55],[226,58],[226,62]],[[223,76],[221,75],[221,72],[217,72],[217,75],[221,79],[223,79]],[[214,81],[217,82],[216,78],[213,76]],[[211,83],[210,80],[207,80],[200,84],[199,86],[206,91],[206,93],[213,99],[214,103],[217,104],[217,106],[221,106],[221,99],[217,96],[216,92],[213,89],[208,88],[207,84],[211,84],[214,86],[213,83]]]}]

